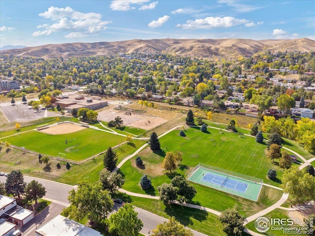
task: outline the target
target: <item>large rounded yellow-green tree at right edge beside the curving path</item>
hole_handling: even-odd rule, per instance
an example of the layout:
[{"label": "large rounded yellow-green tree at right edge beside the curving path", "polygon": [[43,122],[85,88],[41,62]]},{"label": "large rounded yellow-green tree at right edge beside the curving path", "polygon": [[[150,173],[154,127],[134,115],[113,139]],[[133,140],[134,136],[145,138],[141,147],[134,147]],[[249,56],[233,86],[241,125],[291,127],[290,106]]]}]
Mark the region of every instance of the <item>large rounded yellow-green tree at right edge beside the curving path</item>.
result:
[{"label": "large rounded yellow-green tree at right edge beside the curving path", "polygon": [[298,166],[284,170],[282,185],[284,193],[289,193],[292,203],[301,204],[315,199],[315,178]]}]

